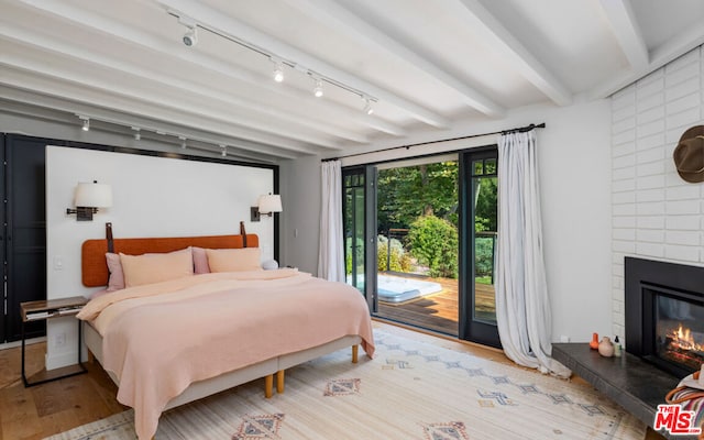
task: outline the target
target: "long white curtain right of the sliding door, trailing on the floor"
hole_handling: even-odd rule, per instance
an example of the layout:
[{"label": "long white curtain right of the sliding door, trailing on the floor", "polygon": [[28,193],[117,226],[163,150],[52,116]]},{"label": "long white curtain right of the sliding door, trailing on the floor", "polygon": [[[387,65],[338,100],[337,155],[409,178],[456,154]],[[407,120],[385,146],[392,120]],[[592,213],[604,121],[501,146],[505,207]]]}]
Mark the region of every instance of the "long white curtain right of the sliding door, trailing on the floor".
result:
[{"label": "long white curtain right of the sliding door, trailing on the floor", "polygon": [[498,263],[496,321],[514,362],[569,377],[550,358],[552,316],[542,257],[536,132],[503,134],[498,142]]}]

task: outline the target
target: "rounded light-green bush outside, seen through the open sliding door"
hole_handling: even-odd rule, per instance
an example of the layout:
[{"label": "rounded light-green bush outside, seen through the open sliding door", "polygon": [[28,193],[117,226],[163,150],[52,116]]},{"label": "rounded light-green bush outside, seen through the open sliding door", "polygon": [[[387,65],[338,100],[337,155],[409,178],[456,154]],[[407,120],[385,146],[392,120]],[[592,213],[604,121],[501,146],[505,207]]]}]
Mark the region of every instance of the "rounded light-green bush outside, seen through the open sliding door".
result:
[{"label": "rounded light-green bush outside, seen through the open sliding door", "polygon": [[435,216],[422,216],[410,224],[411,254],[430,270],[430,276],[457,278],[459,238],[457,228]]}]

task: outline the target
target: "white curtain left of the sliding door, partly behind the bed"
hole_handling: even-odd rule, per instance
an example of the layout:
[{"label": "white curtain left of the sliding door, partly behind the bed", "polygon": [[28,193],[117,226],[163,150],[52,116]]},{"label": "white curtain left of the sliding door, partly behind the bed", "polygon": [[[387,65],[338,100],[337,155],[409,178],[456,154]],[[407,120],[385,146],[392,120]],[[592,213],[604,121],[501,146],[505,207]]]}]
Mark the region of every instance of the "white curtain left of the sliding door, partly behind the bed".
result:
[{"label": "white curtain left of the sliding door, partly behind the bed", "polygon": [[344,239],[342,231],[342,165],[340,161],[322,163],[322,200],[320,210],[320,249],[318,276],[344,283]]}]

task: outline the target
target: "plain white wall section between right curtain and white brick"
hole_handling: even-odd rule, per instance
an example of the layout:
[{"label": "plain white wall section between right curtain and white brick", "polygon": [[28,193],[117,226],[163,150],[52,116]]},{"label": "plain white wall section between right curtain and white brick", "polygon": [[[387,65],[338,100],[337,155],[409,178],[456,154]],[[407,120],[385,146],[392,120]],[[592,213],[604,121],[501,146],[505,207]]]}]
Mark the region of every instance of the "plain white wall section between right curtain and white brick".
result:
[{"label": "plain white wall section between right curtain and white brick", "polygon": [[607,100],[556,110],[538,139],[552,339],[610,332]]}]

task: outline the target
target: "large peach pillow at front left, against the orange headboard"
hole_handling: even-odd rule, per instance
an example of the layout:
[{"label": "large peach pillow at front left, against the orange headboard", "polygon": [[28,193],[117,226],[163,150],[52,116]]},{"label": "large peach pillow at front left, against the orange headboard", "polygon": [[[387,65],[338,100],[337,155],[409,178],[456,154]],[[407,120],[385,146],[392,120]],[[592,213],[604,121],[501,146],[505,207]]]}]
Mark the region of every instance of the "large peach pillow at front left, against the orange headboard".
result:
[{"label": "large peach pillow at front left, against the orange headboard", "polygon": [[194,257],[190,248],[161,254],[125,255],[120,253],[127,287],[166,282],[193,276]]}]

